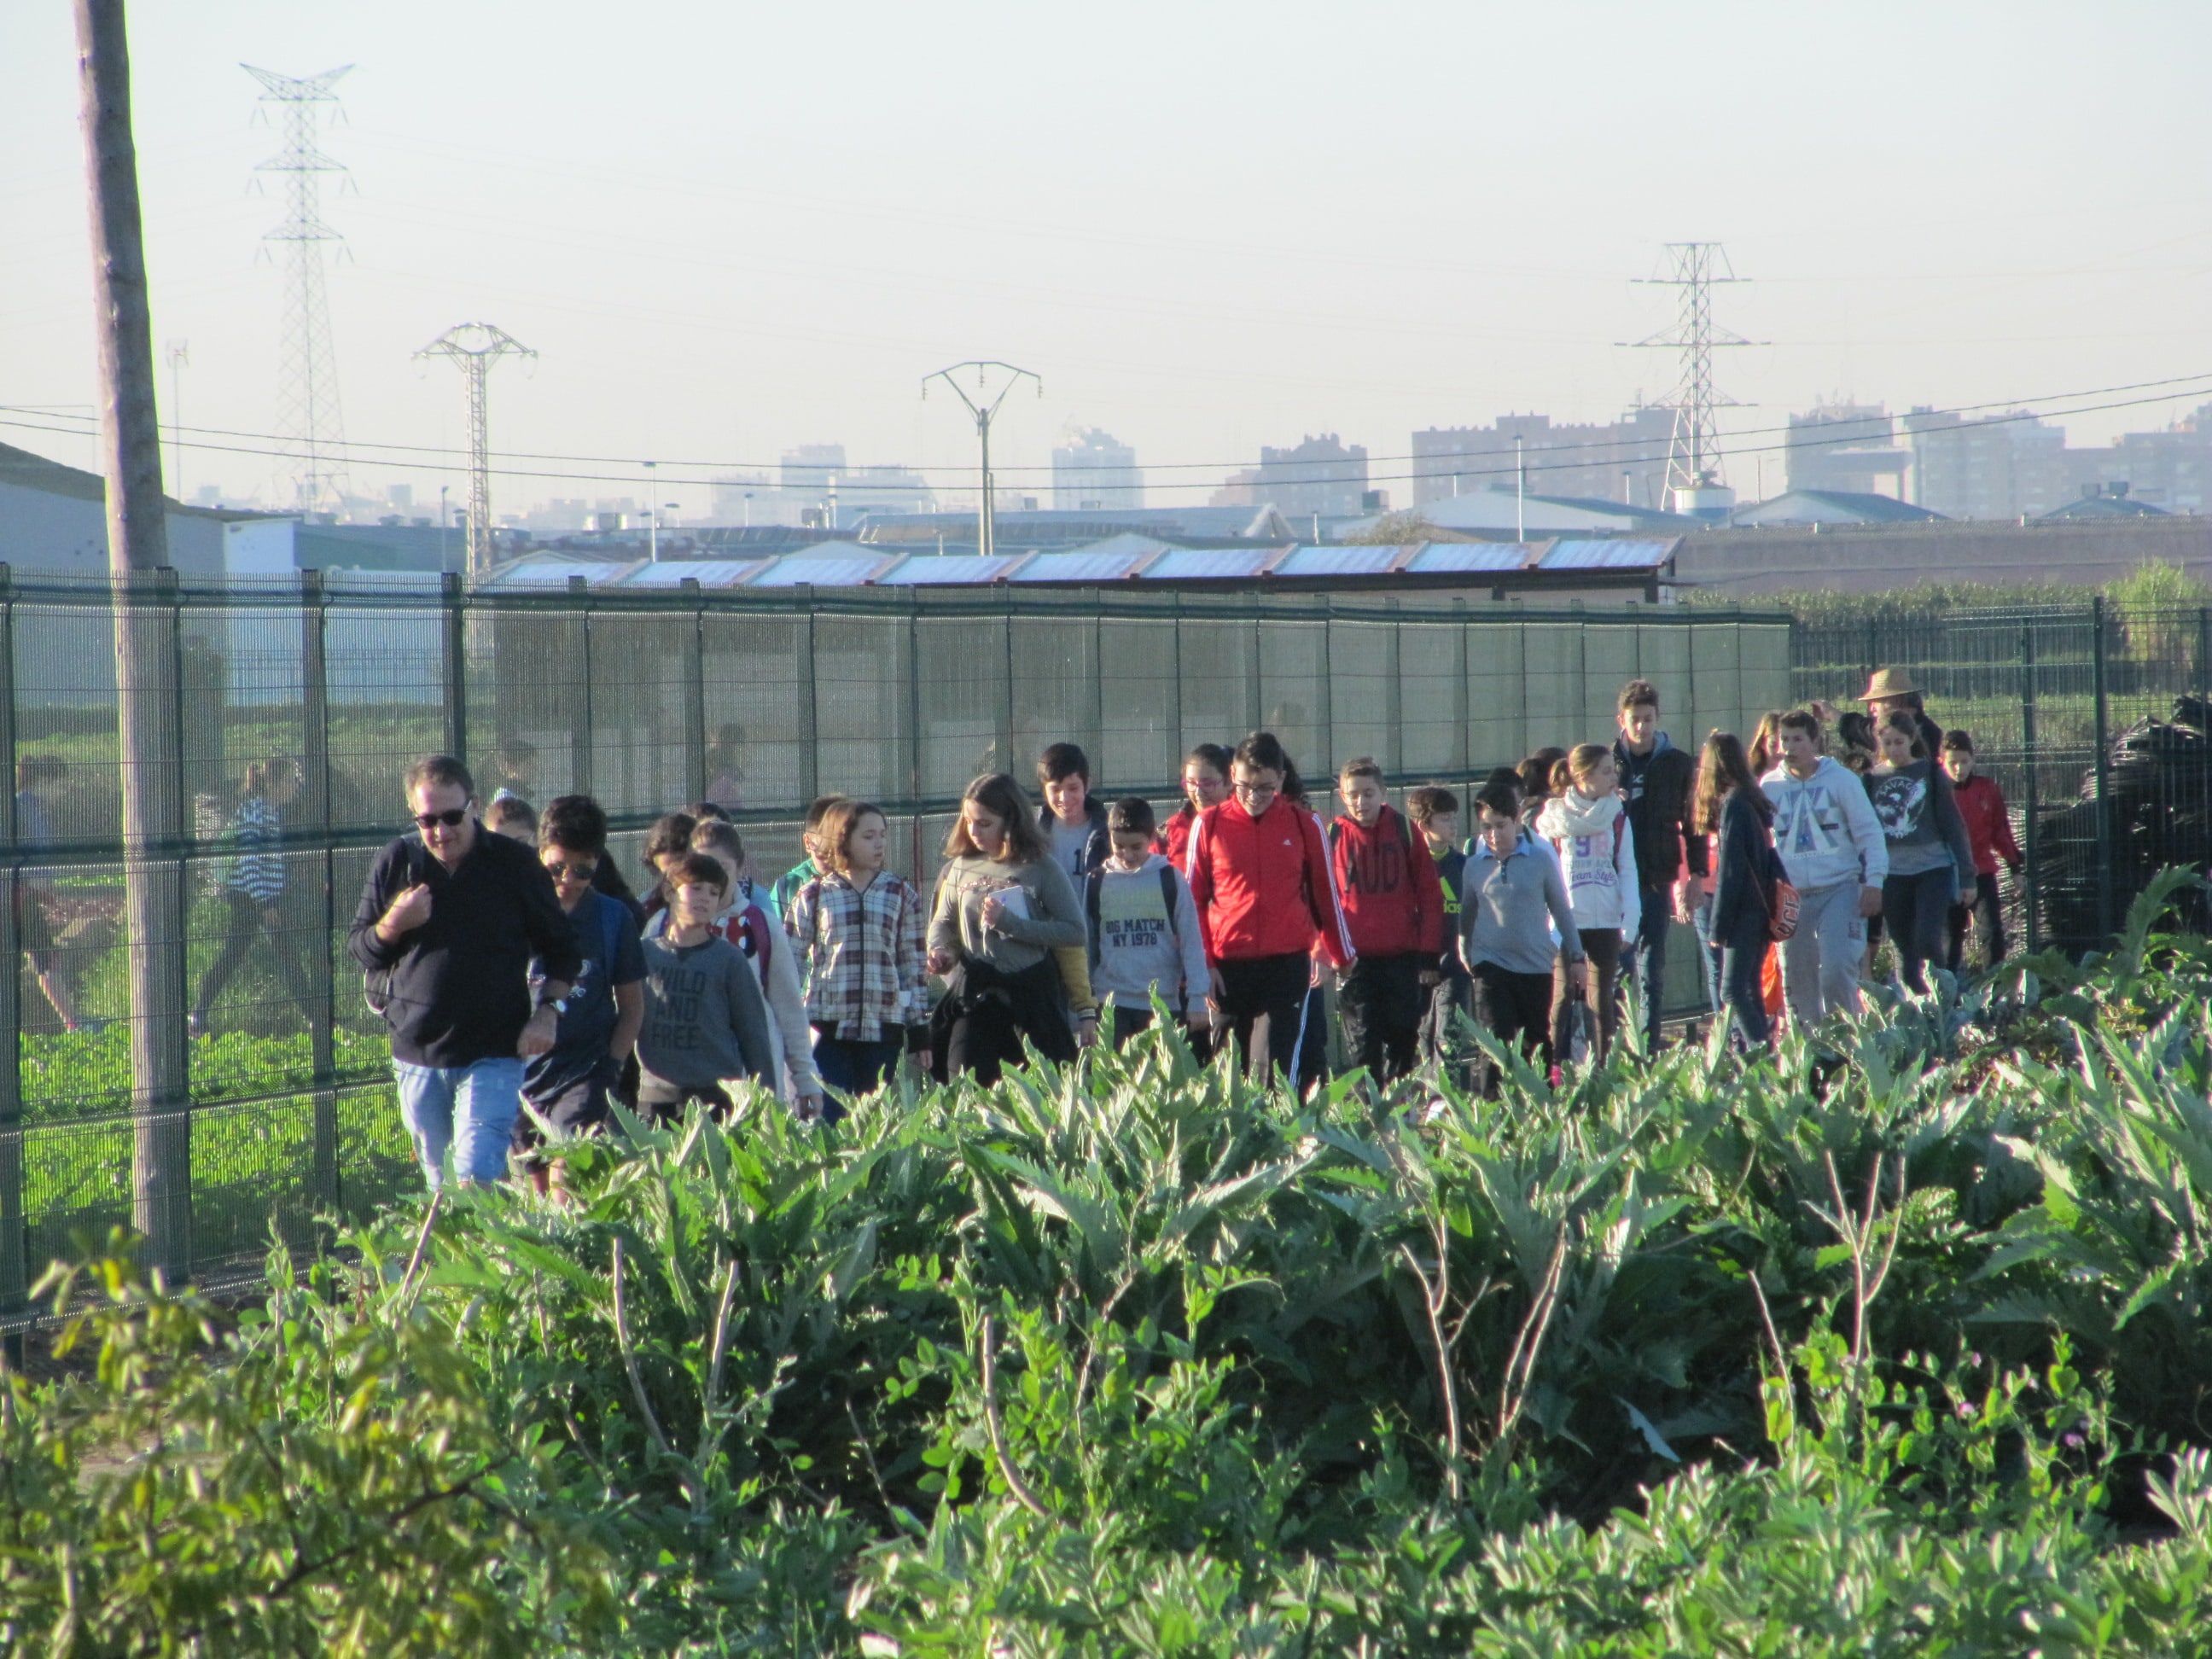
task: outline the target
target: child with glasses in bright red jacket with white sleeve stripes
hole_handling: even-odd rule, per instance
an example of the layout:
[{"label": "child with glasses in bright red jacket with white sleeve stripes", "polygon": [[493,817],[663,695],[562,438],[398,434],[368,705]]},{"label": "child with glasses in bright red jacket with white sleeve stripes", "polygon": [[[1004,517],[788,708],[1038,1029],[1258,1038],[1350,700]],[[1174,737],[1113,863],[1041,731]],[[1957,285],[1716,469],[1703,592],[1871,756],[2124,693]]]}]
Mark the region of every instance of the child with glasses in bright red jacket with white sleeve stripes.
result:
[{"label": "child with glasses in bright red jacket with white sleeve stripes", "polygon": [[1272,732],[1248,737],[1230,765],[1230,799],[1190,827],[1183,872],[1214,1009],[1256,1077],[1296,1075],[1314,938],[1336,969],[1356,960],[1321,823],[1290,799],[1296,776]]}]

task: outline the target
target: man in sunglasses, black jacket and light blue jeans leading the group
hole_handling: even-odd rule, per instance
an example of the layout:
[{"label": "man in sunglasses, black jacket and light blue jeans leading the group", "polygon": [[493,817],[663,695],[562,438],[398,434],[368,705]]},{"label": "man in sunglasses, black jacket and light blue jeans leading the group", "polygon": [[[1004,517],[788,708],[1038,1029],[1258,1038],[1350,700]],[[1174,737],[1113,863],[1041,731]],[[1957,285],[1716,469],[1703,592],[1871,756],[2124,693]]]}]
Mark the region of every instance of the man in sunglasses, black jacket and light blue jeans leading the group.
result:
[{"label": "man in sunglasses, black jacket and light blue jeans leading the group", "polygon": [[538,852],[478,823],[469,768],[431,754],[405,783],[416,834],[376,856],[347,949],[380,980],[400,1117],[431,1190],[447,1148],[462,1183],[498,1181],[522,1062],[553,1046],[582,953]]}]

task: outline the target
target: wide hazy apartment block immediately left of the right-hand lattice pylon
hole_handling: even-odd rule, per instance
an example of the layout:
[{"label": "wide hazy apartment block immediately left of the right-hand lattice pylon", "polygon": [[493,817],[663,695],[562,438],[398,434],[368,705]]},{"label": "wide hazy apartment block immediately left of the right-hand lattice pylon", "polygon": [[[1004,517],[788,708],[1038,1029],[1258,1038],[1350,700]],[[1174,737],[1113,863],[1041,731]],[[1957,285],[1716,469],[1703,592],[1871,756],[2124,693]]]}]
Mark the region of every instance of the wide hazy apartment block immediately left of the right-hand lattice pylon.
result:
[{"label": "wide hazy apartment block immediately left of the right-hand lattice pylon", "polygon": [[1672,409],[1632,409],[1610,422],[1568,422],[1509,414],[1486,427],[1427,427],[1413,434],[1413,507],[1489,484],[1511,487],[1513,440],[1533,495],[1588,495],[1628,507],[1666,507],[1666,451]]}]

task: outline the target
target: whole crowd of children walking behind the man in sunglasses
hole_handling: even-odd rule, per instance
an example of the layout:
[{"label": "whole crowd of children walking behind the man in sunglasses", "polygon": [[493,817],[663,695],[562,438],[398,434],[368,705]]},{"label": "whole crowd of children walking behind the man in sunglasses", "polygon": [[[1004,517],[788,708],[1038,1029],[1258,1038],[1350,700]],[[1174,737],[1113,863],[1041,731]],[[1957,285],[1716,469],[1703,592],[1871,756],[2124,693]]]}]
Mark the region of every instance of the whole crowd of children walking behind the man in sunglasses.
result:
[{"label": "whole crowd of children walking behind the man in sunglasses", "polygon": [[[807,856],[765,889],[717,803],[668,814],[637,896],[586,796],[540,816],[502,792],[484,825],[538,845],[586,956],[524,1099],[573,1130],[608,1095],[721,1113],[750,1077],[834,1119],[900,1055],[991,1082],[1024,1048],[1121,1044],[1157,1009],[1201,1055],[1234,1044],[1312,1084],[1327,984],[1347,1064],[1378,1082],[1449,1064],[1489,1088],[1462,1015],[1537,1066],[1604,1055],[1628,975],[1659,993],[1670,920],[1699,931],[1714,1013],[1765,1042],[1781,1000],[1805,1022],[1856,1006],[1885,925],[1913,989],[1927,962],[1958,967],[1969,909],[1989,960],[2004,953],[1995,869],[2020,849],[2002,794],[1909,688],[1869,708],[1774,714],[1750,748],[1714,732],[1692,761],[1632,681],[1615,743],[1500,768],[1464,841],[1453,790],[1416,787],[1400,812],[1365,757],[1323,818],[1267,732],[1194,748],[1166,823],[1141,796],[1095,799],[1088,757],[1053,743],[1042,803],[1002,772],[969,785],[929,900],[887,869],[889,818],[867,801],[818,799]],[[1785,894],[1794,931],[1776,925]],[[518,1139],[535,1139],[529,1115]]]}]

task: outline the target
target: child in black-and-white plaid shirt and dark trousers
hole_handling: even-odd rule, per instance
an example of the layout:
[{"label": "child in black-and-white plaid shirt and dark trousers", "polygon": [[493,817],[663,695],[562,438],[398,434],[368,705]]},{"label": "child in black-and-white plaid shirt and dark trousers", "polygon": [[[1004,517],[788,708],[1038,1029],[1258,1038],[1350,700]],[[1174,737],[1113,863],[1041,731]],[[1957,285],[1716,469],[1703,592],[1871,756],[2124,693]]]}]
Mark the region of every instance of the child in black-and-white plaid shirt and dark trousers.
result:
[{"label": "child in black-and-white plaid shirt and dark trousers", "polygon": [[814,1066],[827,1086],[823,1117],[838,1097],[883,1084],[898,1051],[929,1068],[929,989],[922,896],[883,867],[891,825],[883,807],[838,801],[823,814],[814,845],[825,869],[792,896],[783,927],[807,982]]}]

